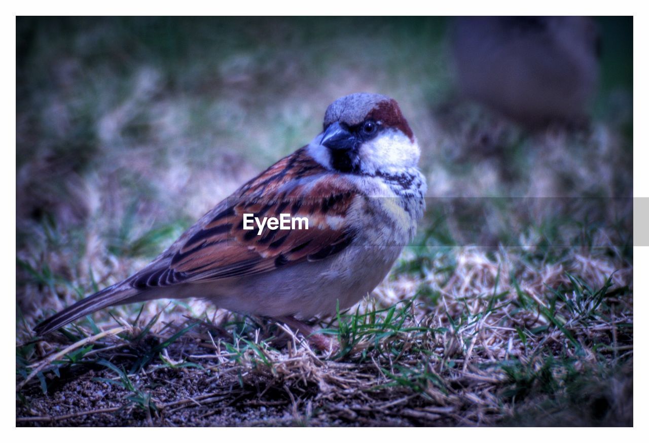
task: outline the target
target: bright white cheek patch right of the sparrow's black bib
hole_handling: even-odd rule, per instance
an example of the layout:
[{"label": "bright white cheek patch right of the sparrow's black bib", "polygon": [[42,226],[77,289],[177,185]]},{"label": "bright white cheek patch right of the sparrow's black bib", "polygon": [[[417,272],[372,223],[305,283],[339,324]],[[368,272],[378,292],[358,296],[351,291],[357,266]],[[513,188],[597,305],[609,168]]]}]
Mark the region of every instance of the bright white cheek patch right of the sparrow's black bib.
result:
[{"label": "bright white cheek patch right of the sparrow's black bib", "polygon": [[393,129],[384,131],[360,147],[361,168],[368,173],[385,168],[411,168],[419,162],[417,140]]}]

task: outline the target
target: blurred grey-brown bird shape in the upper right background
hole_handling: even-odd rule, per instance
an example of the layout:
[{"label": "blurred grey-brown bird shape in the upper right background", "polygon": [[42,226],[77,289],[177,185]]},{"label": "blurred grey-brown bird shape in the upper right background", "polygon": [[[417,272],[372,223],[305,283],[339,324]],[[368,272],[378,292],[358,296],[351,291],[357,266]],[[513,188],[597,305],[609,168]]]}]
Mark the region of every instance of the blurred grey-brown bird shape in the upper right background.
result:
[{"label": "blurred grey-brown bird shape in the upper right background", "polygon": [[587,17],[461,17],[450,27],[461,94],[528,129],[588,120],[601,39]]}]

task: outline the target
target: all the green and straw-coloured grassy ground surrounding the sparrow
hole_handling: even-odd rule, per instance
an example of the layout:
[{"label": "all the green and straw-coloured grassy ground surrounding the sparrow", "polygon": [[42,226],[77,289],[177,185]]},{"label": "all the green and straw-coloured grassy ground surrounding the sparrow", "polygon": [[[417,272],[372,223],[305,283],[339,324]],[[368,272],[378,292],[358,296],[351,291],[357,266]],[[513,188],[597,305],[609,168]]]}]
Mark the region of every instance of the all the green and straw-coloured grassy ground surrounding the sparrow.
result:
[{"label": "all the green and straw-coloured grassy ground surrounding the sparrow", "polygon": [[[603,20],[591,127],[529,134],[456,103],[439,19],[19,19],[17,425],[632,424],[630,58]],[[33,336],[357,90],[401,103],[428,209],[317,323],[339,351],[199,300]]]}]

